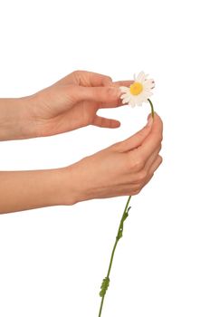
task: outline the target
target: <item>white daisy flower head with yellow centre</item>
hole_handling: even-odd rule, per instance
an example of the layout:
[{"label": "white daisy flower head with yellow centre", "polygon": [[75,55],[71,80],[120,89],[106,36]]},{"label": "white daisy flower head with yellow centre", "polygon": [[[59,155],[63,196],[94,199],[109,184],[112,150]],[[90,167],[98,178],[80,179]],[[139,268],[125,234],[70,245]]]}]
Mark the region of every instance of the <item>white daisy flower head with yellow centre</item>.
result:
[{"label": "white daisy flower head with yellow centre", "polygon": [[148,75],[139,72],[138,76],[134,74],[134,82],[129,87],[121,86],[120,96],[122,103],[128,103],[131,107],[141,106],[143,102],[147,102],[148,98],[153,94],[151,90],[155,87],[153,79],[148,79]]}]

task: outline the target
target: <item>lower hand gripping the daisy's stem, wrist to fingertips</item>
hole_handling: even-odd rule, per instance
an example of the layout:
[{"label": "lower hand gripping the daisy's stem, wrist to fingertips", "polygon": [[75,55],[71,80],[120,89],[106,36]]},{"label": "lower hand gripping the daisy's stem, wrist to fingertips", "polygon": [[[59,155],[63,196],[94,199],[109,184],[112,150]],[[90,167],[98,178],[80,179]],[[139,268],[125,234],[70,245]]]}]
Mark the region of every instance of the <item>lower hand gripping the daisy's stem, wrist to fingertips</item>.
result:
[{"label": "lower hand gripping the daisy's stem, wrist to fingertips", "polygon": [[160,117],[149,115],[148,125],[129,139],[64,168],[62,204],[138,194],[162,162],[162,130]]}]

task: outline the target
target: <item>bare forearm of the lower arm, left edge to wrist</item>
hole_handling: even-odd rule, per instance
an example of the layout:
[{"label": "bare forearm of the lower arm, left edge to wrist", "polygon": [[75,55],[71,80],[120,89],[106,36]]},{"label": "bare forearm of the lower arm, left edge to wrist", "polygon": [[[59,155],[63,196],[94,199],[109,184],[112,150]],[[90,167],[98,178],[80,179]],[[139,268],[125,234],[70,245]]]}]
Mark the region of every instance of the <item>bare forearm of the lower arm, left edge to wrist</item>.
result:
[{"label": "bare forearm of the lower arm, left edge to wrist", "polygon": [[[0,214],[65,205],[65,168],[0,172]],[[69,205],[73,204],[69,191]],[[72,203],[71,203],[72,202]]]}]

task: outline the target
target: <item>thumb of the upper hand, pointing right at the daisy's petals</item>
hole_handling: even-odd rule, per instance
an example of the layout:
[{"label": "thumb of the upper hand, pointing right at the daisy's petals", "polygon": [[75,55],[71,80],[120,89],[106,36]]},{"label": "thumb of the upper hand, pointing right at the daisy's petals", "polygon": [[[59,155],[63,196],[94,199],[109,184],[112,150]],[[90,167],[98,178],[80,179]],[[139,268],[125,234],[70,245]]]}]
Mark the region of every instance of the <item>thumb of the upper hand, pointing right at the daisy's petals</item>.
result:
[{"label": "thumb of the upper hand, pointing right at the daisy's petals", "polygon": [[121,91],[118,87],[83,87],[69,85],[68,95],[73,102],[79,101],[118,101]]}]

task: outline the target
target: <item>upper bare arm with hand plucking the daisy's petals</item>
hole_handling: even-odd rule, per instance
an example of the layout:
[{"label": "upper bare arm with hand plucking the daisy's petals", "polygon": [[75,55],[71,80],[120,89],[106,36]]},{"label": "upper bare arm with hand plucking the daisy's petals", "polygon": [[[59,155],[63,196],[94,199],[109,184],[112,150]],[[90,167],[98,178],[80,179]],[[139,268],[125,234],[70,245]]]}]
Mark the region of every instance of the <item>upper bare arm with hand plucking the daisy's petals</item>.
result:
[{"label": "upper bare arm with hand plucking the daisy's petals", "polygon": [[119,86],[130,83],[76,71],[31,96],[0,99],[0,140],[46,137],[90,124],[118,128],[118,120],[101,118],[97,111],[122,105]]}]

